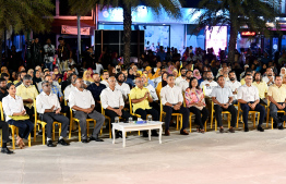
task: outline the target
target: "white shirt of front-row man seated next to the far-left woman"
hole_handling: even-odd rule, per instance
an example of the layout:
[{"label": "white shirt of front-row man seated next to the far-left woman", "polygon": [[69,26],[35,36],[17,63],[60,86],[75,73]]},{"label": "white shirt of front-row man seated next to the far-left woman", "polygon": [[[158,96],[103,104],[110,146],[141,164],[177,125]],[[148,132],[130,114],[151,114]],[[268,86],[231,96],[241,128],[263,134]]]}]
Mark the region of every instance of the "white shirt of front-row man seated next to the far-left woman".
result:
[{"label": "white shirt of front-row man seated next to the far-left woman", "polygon": [[51,109],[55,106],[55,110],[60,109],[60,102],[56,94],[50,93],[47,95],[41,91],[36,98],[36,107],[38,113],[45,113],[46,109]]}]

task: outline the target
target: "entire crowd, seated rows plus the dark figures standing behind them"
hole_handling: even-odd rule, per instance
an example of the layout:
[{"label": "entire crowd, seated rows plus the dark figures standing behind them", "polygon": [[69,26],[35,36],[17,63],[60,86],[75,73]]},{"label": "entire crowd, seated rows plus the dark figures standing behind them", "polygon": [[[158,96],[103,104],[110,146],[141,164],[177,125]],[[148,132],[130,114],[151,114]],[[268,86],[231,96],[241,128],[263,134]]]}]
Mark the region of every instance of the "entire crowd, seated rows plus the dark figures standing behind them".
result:
[{"label": "entire crowd, seated rows plus the dark figures standing behind them", "polygon": [[[29,135],[45,134],[47,146],[55,147],[51,133],[57,121],[61,124],[58,144],[69,146],[64,138],[74,131],[69,127],[73,118],[79,123],[79,139],[85,144],[104,142],[100,130],[105,125],[110,133],[111,126],[105,119],[109,118],[112,123],[117,116],[122,121],[136,120],[139,115],[146,120],[151,114],[154,121],[165,122],[166,136],[170,136],[169,127],[176,124],[181,135],[189,135],[191,115],[194,115],[196,132],[205,133],[206,123],[213,122],[214,115],[219,132],[225,133],[223,111],[231,116],[229,133],[235,133],[237,122],[243,122],[243,130],[248,132],[251,111],[260,112],[258,131],[264,131],[262,123],[267,115],[274,119],[274,127],[284,128],[286,116],[278,112],[286,111],[285,51],[270,58],[261,49],[241,49],[236,50],[235,61],[228,61],[226,49],[215,54],[212,48],[202,50],[190,46],[165,50],[158,45],[142,53],[138,62],[124,65],[117,51],[105,48],[96,57],[92,47],[86,49],[82,63],[75,62],[75,53],[64,39],[60,37],[58,41],[59,46],[55,46],[47,39],[41,47],[36,38],[28,45],[24,58],[14,46],[5,53],[0,78],[3,154],[13,152],[7,147],[9,125],[19,128],[15,144],[20,148],[25,147],[23,139]],[[239,110],[241,120],[238,120]],[[35,111],[36,116],[46,122],[46,133],[43,128],[34,130]],[[181,114],[180,122],[172,119],[172,113]],[[90,120],[96,125],[88,135]],[[152,131],[152,136],[158,136],[157,132]],[[117,132],[116,137],[122,137],[122,133]],[[143,132],[143,137],[148,137],[147,132]]]}]

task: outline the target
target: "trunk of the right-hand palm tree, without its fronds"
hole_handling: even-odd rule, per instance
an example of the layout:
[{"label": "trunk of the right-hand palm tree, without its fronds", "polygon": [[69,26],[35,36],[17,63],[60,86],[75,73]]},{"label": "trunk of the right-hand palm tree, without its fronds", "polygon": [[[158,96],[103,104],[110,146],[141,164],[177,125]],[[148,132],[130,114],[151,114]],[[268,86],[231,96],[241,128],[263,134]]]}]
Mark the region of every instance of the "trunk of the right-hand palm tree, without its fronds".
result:
[{"label": "trunk of the right-hand palm tree, without its fronds", "polygon": [[231,21],[231,23],[230,23],[230,38],[229,38],[229,44],[228,44],[228,59],[227,60],[230,63],[234,63],[234,61],[235,61],[237,34],[238,34],[238,29],[237,29],[237,26],[236,26],[236,20],[234,20],[234,22]]}]

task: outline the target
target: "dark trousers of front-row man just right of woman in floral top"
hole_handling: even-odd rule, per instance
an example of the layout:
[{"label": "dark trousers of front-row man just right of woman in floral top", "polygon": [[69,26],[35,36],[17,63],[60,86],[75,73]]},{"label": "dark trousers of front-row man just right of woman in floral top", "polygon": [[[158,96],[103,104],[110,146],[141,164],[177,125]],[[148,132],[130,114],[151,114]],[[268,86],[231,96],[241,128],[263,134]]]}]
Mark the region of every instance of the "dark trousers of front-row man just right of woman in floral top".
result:
[{"label": "dark trousers of front-row man just right of woman in floral top", "polygon": [[223,126],[223,118],[222,118],[222,112],[223,111],[228,111],[231,114],[231,122],[230,126],[236,127],[237,124],[237,109],[235,108],[234,105],[228,106],[227,109],[222,108],[218,105],[214,105],[214,110],[215,110],[215,119],[217,121],[217,126]]}]

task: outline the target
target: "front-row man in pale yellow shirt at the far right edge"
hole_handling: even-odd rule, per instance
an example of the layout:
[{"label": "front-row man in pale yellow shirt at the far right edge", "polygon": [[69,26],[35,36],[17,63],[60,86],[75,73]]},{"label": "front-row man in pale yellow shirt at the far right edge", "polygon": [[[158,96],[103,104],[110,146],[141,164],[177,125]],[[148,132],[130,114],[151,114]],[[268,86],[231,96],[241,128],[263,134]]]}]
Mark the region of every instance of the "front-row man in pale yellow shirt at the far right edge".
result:
[{"label": "front-row man in pale yellow shirt at the far right edge", "polygon": [[270,115],[277,123],[278,130],[284,130],[283,122],[286,121],[286,115],[278,116],[277,111],[283,110],[286,112],[286,88],[282,85],[282,76],[275,77],[275,84],[271,85],[269,88],[269,99],[270,103]]}]

